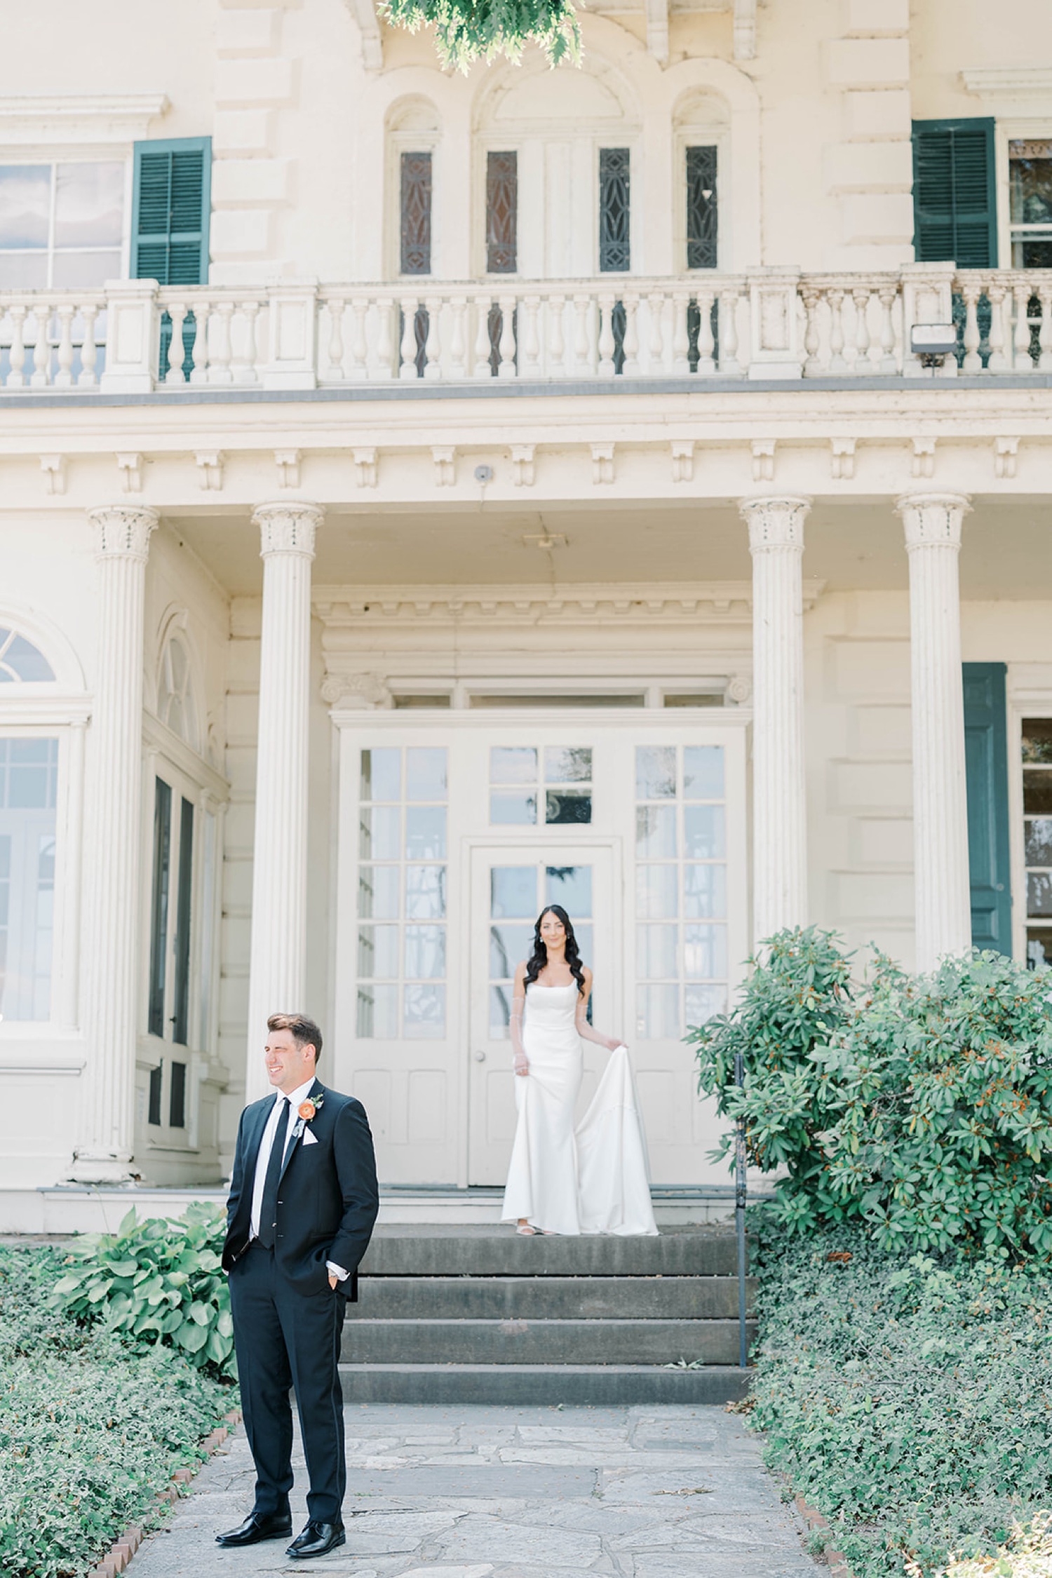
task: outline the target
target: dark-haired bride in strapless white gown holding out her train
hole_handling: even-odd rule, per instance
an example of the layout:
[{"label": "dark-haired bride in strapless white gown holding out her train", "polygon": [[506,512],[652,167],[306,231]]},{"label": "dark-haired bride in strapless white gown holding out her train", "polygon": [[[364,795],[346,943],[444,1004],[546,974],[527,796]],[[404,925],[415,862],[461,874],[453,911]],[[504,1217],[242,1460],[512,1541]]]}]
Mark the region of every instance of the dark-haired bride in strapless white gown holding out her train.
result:
[{"label": "dark-haired bride in strapless white gown holding out her train", "polygon": [[[503,1221],[519,1232],[655,1234],[647,1141],[628,1048],[588,1024],[591,970],[580,963],[569,915],[538,918],[533,956],[516,970],[511,1046],[519,1122]],[[580,1124],[580,1041],[610,1060]]]}]

